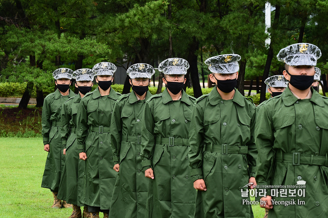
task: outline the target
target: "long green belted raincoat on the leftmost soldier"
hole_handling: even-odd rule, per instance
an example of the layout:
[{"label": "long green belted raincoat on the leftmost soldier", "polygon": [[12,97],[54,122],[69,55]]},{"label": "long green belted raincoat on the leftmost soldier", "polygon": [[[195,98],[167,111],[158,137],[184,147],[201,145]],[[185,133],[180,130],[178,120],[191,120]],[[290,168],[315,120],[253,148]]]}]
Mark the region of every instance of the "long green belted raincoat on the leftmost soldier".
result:
[{"label": "long green belted raincoat on the leftmost soldier", "polygon": [[43,145],[49,144],[46,166],[42,177],[42,188],[49,188],[57,192],[60,183],[61,170],[65,164],[65,155],[63,154],[61,144],[61,109],[65,101],[75,96],[69,89],[68,95],[62,95],[57,89],[50,93],[44,99],[42,108],[42,137]]}]

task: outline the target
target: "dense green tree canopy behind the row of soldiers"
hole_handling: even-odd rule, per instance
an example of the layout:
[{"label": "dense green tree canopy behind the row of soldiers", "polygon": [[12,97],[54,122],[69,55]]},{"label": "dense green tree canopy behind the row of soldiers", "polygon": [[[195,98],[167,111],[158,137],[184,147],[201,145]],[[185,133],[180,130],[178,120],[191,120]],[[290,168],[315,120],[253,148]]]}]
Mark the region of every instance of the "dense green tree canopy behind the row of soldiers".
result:
[{"label": "dense green tree canopy behind the row of soldiers", "polygon": [[[209,73],[203,62],[237,53],[242,57],[238,89],[244,94],[244,79],[281,74],[276,54],[298,42],[321,49],[317,66],[326,74],[328,0],[269,2],[271,43],[265,45],[265,1],[260,0],[0,0],[0,82],[27,84],[22,108],[34,87],[42,106],[43,90],[53,86],[57,68],[92,68],[101,61],[157,67],[168,57],[180,57],[190,64],[186,86],[199,97],[199,78]],[[127,78],[123,92],[129,91]]]}]

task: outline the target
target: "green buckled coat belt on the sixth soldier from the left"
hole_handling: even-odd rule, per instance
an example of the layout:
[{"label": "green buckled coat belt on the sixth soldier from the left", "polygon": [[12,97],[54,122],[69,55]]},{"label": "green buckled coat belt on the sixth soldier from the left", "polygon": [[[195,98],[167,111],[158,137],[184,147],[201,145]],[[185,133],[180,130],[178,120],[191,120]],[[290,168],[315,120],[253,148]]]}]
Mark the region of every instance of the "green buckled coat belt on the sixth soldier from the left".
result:
[{"label": "green buckled coat belt on the sixth soldier from the left", "polygon": [[205,151],[222,153],[222,154],[247,154],[247,146],[238,146],[238,145],[215,145],[215,144],[206,144]]}]

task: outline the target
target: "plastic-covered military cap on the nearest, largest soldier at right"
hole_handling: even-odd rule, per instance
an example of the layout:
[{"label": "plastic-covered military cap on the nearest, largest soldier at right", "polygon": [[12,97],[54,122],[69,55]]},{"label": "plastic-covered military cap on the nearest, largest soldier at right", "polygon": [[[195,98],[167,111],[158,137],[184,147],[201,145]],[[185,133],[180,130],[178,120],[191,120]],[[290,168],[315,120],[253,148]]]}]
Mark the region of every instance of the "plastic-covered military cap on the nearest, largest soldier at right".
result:
[{"label": "plastic-covered military cap on the nearest, largest soldier at right", "polygon": [[321,57],[320,49],[310,43],[297,43],[283,48],[277,54],[278,61],[289,66],[316,66]]}]

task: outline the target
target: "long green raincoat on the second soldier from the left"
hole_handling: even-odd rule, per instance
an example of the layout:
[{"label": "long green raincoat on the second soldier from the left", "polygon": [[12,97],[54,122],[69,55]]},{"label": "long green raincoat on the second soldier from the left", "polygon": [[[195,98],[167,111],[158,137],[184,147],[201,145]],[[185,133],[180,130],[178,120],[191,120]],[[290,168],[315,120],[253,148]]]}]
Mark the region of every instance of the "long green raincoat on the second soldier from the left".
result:
[{"label": "long green raincoat on the second soldier from the left", "polygon": [[66,149],[66,161],[61,175],[58,198],[69,204],[83,206],[81,188],[84,173],[84,161],[80,160],[76,140],[76,116],[81,101],[78,94],[67,100],[61,113],[62,146]]}]

